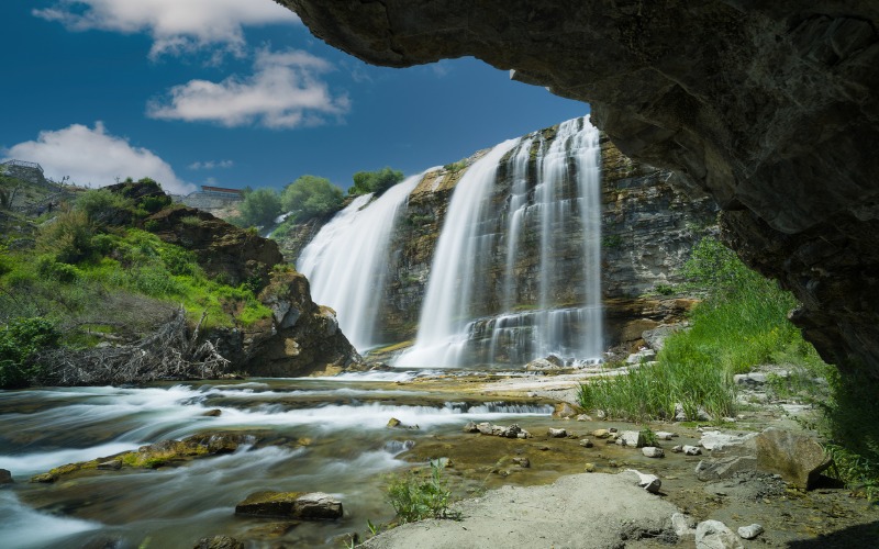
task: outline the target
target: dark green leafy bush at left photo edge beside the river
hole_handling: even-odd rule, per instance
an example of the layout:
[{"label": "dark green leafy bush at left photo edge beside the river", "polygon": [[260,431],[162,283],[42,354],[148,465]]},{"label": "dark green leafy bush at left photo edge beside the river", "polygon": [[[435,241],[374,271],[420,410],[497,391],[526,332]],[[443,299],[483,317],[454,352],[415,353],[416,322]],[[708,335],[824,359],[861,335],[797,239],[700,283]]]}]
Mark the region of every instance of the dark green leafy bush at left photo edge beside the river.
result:
[{"label": "dark green leafy bush at left photo edge beside the river", "polygon": [[35,355],[58,341],[58,332],[41,317],[16,318],[0,328],[0,388],[30,384],[42,373]]}]

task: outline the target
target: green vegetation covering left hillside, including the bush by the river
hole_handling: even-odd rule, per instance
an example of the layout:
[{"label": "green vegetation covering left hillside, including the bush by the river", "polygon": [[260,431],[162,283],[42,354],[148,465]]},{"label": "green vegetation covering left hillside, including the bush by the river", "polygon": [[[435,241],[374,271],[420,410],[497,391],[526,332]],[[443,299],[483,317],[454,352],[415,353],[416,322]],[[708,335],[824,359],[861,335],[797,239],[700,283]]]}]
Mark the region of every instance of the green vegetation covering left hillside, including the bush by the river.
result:
[{"label": "green vegetation covering left hillside, including the bush by the river", "polygon": [[[54,192],[3,183],[26,187],[34,199]],[[134,345],[174,324],[180,311],[182,329],[246,327],[270,316],[256,299],[263,278],[209,273],[194,251],[149,231],[163,228],[151,217],[177,209],[155,181],[141,180],[68,192],[36,219],[1,212],[0,386],[57,381],[59,362],[75,351]],[[190,228],[203,223],[194,215],[180,221]]]}]

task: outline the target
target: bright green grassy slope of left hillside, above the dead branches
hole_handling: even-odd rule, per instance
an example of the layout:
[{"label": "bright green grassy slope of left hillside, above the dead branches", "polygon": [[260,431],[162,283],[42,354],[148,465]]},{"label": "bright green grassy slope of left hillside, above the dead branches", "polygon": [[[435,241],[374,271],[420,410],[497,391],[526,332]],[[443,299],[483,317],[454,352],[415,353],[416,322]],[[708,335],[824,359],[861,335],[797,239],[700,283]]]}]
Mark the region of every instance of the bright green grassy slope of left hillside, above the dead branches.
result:
[{"label": "bright green grassy slope of left hillside, above the dead branches", "polygon": [[[35,201],[49,192],[29,191]],[[60,345],[81,348],[143,337],[180,305],[193,320],[207,313],[205,327],[247,326],[270,315],[257,289],[211,280],[185,248],[131,225],[101,222],[112,211],[134,220],[149,213],[142,203],[109,194],[76,193],[40,219],[0,212],[0,339],[29,318],[47,321]],[[0,350],[0,368],[3,360]]]}]

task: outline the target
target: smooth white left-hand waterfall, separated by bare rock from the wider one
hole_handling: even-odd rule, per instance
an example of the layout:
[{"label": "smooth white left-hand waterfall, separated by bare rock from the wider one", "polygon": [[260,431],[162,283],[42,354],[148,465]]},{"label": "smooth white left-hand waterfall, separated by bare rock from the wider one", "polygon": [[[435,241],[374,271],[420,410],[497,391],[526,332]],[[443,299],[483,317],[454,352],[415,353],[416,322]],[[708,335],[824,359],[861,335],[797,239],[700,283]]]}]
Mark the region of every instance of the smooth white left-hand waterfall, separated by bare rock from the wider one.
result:
[{"label": "smooth white left-hand waterfall, separated by bare rock from the wider one", "polygon": [[379,303],[388,274],[388,244],[397,212],[424,173],[357,197],[302,250],[297,269],[311,282],[315,303],[336,311],[342,332],[364,351],[375,347]]}]

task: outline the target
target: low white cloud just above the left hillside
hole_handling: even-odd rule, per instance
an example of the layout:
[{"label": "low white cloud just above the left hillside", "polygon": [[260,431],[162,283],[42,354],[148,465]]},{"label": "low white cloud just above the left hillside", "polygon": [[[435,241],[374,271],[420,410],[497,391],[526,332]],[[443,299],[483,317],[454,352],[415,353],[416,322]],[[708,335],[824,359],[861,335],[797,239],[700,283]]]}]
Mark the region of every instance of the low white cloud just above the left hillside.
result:
[{"label": "low white cloud just above the left hillside", "polygon": [[116,178],[151,177],[163,189],[177,194],[196,190],[181,181],[174,169],[143,147],[133,147],[127,139],[107,133],[103,123],[94,128],[73,124],[57,131],[40,132],[36,141],[19,143],[3,152],[7,158],[40,163],[46,177],[59,181],[69,176],[70,181],[87,187],[104,187]]}]

